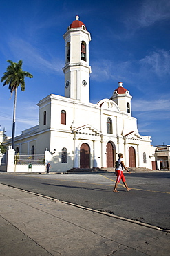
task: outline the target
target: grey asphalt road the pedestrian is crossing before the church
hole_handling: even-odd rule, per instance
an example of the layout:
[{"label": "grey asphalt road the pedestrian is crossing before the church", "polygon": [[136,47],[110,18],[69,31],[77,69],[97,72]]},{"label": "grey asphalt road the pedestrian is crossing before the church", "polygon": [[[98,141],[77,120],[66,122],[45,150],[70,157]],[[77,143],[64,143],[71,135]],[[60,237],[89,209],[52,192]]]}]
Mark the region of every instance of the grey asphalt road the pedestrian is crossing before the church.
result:
[{"label": "grey asphalt road the pedestrian is crossing before the church", "polygon": [[0,183],[87,208],[170,230],[170,172],[125,174],[127,192],[113,193],[113,173],[14,175],[1,173]]}]

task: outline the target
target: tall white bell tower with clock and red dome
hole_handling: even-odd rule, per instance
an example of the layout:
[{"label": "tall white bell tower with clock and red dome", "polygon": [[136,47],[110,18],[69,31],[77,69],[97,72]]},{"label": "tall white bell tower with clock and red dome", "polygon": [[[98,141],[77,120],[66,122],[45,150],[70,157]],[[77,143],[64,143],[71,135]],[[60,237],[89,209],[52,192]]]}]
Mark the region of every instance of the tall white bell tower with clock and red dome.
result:
[{"label": "tall white bell tower with clock and red dome", "polygon": [[89,103],[89,42],[90,33],[85,24],[76,20],[67,28],[65,39],[65,97]]}]

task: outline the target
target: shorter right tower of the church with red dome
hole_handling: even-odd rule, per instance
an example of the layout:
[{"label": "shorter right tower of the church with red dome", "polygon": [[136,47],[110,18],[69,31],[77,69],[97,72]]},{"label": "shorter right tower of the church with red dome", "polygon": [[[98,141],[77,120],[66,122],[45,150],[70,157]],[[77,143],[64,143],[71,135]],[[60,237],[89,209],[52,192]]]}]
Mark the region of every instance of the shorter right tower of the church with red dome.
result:
[{"label": "shorter right tower of the church with red dome", "polygon": [[123,87],[123,82],[118,82],[118,88],[114,90],[111,100],[113,100],[121,111],[131,116],[131,95],[129,91]]}]

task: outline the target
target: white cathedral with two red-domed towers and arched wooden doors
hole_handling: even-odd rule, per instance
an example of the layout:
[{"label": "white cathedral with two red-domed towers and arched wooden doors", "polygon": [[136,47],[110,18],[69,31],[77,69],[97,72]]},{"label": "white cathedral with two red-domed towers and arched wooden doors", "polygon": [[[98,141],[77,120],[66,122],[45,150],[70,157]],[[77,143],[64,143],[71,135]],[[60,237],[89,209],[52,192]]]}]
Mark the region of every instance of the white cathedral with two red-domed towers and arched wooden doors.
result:
[{"label": "white cathedral with two red-domed towers and arched wooden doors", "polygon": [[127,167],[151,169],[151,137],[138,133],[137,120],[131,116],[132,97],[123,83],[118,82],[110,99],[89,102],[91,37],[78,16],[63,37],[65,97],[51,94],[39,101],[39,125],[15,138],[15,151],[44,154],[48,149],[56,172],[112,168],[119,152]]}]

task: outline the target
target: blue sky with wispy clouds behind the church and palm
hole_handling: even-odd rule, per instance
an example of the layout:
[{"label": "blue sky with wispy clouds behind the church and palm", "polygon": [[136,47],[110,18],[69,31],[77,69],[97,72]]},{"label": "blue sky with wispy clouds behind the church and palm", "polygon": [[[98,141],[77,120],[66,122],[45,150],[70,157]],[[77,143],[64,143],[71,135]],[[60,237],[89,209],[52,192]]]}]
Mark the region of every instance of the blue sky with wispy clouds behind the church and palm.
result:
[{"label": "blue sky with wispy clouds behind the church and palm", "polygon": [[[170,144],[169,0],[6,0],[0,8],[0,77],[23,60],[25,91],[17,90],[16,135],[38,124],[39,100],[64,95],[67,26],[79,15],[91,33],[90,102],[110,98],[118,82],[132,95],[138,131],[152,145]],[[0,125],[11,136],[13,99],[0,85]]]}]

